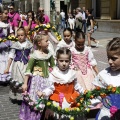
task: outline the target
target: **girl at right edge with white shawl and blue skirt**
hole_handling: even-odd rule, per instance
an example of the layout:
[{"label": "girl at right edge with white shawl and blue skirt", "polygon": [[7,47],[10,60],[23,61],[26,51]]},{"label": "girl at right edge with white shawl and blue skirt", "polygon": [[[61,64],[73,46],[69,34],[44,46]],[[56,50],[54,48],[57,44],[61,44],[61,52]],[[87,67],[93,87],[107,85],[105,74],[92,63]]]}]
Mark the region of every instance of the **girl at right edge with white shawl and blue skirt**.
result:
[{"label": "girl at right edge with white shawl and blue skirt", "polygon": [[[93,84],[102,88],[120,86],[120,37],[113,38],[107,44],[107,57],[110,67],[102,70]],[[115,112],[112,112],[112,109]],[[110,94],[103,99],[103,107],[96,120],[120,120],[120,93]]]}]

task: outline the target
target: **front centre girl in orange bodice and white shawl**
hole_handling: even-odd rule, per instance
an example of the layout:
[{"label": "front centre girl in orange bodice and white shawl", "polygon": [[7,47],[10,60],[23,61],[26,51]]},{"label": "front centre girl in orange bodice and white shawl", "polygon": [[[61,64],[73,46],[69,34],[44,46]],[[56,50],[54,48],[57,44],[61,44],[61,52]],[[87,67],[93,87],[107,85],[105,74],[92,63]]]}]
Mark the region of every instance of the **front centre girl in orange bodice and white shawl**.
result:
[{"label": "front centre girl in orange bodice and white shawl", "polygon": [[[77,83],[76,71],[69,68],[71,51],[68,48],[62,47],[57,50],[56,57],[57,67],[54,67],[50,73],[50,86],[43,91],[38,91],[38,95],[40,97],[49,96],[53,104],[60,106],[62,109],[69,108],[73,106],[77,96],[83,93],[84,90],[79,83]],[[49,120],[49,118],[47,118],[49,116],[48,114],[46,111],[45,120]]]}]

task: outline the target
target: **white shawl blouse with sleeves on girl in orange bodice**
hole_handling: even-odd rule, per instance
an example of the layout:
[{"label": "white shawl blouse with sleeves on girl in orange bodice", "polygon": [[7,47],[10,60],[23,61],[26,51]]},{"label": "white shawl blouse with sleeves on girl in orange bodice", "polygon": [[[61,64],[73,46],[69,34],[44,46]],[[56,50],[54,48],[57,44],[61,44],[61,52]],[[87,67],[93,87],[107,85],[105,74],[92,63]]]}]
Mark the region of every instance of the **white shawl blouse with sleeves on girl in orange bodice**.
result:
[{"label": "white shawl blouse with sleeves on girl in orange bodice", "polygon": [[54,83],[68,84],[73,81],[75,90],[77,90],[79,93],[83,93],[84,90],[76,79],[76,71],[69,69],[62,72],[58,67],[54,67],[52,73],[50,73],[49,76],[50,87],[43,90],[43,92],[46,94],[46,96],[49,96],[53,94],[53,91],[55,90]]}]

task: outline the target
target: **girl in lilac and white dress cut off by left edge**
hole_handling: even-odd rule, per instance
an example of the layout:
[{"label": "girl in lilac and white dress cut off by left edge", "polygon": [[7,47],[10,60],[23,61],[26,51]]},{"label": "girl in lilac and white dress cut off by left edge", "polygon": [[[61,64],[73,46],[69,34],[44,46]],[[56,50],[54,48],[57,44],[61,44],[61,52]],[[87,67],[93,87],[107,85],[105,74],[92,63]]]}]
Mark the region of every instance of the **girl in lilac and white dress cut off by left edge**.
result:
[{"label": "girl in lilac and white dress cut off by left edge", "polygon": [[4,74],[4,70],[7,67],[8,63],[8,54],[10,51],[10,46],[12,42],[7,40],[3,42],[10,33],[13,33],[13,30],[10,27],[10,24],[7,22],[8,19],[8,10],[2,8],[0,5],[0,82],[7,82],[10,80],[10,73]]}]

